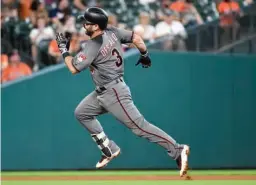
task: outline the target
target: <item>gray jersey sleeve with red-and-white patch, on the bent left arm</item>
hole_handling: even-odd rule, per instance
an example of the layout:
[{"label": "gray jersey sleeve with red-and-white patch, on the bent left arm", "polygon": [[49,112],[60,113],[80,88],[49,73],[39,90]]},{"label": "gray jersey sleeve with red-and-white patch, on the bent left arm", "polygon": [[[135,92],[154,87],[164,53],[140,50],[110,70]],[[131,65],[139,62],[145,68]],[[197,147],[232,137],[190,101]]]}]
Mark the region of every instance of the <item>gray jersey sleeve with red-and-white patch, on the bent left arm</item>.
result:
[{"label": "gray jersey sleeve with red-and-white patch, on the bent left arm", "polygon": [[83,71],[87,69],[91,63],[94,61],[98,54],[99,49],[94,48],[93,45],[87,44],[82,51],[80,51],[72,61],[73,66],[78,71]]}]

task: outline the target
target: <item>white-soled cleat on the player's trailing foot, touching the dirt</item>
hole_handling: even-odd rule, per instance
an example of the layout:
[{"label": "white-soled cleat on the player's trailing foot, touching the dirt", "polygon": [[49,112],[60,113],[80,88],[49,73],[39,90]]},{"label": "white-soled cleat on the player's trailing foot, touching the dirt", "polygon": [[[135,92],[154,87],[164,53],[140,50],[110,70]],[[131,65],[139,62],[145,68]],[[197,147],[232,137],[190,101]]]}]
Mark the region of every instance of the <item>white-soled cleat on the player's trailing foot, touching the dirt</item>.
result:
[{"label": "white-soled cleat on the player's trailing foot, touching the dirt", "polygon": [[177,160],[177,163],[179,162],[180,167],[180,176],[183,177],[187,174],[188,171],[188,155],[189,155],[190,149],[188,145],[184,145],[184,148],[181,152],[181,155],[179,159]]}]

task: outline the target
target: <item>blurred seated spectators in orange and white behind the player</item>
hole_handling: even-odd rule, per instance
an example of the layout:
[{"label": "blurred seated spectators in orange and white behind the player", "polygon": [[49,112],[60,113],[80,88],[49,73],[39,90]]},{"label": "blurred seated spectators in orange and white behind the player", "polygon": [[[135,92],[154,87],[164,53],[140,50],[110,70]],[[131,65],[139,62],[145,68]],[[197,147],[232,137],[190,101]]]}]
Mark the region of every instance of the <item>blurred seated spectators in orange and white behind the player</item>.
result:
[{"label": "blurred seated spectators in orange and white behind the player", "polygon": [[[166,37],[164,49],[185,51],[187,29],[220,19],[223,30],[239,30],[241,5],[253,0],[2,0],[1,83],[62,63],[56,32],[71,37],[75,55],[88,40],[77,16],[91,6],[109,13],[109,24],[133,30],[153,43]],[[199,11],[199,9],[201,10]],[[227,31],[228,32],[228,31]],[[237,33],[233,32],[234,37]],[[124,51],[130,46],[124,45]]]}]

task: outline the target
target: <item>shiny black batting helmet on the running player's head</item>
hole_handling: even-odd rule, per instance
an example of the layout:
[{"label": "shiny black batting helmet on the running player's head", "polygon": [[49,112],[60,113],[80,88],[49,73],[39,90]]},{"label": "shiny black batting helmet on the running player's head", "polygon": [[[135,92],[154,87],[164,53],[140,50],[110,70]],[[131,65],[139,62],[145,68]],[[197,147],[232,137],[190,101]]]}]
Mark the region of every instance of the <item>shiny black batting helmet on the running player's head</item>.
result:
[{"label": "shiny black batting helmet on the running player's head", "polygon": [[78,20],[83,24],[98,24],[104,30],[108,24],[108,14],[105,10],[98,7],[88,8],[84,15],[78,16]]}]

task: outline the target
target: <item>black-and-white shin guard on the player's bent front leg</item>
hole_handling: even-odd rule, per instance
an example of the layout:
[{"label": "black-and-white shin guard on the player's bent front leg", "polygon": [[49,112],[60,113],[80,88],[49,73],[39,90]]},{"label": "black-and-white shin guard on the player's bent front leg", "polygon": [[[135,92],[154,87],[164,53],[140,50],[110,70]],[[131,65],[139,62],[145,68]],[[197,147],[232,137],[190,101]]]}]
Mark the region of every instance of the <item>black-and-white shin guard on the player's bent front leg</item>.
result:
[{"label": "black-and-white shin guard on the player's bent front leg", "polygon": [[97,143],[99,149],[105,156],[112,156],[112,152],[108,147],[109,139],[103,131],[99,134],[92,134],[92,139]]}]

